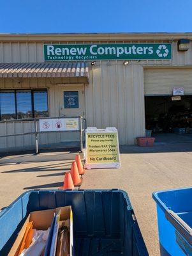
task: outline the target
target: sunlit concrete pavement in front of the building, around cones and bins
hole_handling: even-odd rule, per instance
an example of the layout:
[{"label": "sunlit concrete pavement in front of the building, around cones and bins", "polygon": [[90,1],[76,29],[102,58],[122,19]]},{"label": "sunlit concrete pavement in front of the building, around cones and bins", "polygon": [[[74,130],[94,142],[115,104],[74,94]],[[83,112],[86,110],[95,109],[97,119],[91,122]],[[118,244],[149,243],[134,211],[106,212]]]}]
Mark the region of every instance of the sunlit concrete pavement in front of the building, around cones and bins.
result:
[{"label": "sunlit concrete pavement in front of the building, around cones and bins", "polygon": [[[152,192],[192,184],[192,143],[121,148],[121,168],[87,170],[81,189],[119,188],[128,192],[149,255],[159,255],[156,205]],[[0,209],[27,189],[57,189],[75,153],[46,153],[0,159]]]}]

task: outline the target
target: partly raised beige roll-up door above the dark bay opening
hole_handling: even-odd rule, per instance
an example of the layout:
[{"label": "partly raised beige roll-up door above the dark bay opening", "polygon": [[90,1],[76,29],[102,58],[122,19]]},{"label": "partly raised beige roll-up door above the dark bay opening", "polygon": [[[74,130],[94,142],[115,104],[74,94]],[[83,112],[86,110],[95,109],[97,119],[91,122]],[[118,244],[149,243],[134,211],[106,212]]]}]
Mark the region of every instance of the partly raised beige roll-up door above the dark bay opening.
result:
[{"label": "partly raised beige roll-up door above the dark bay opening", "polygon": [[145,95],[172,95],[174,87],[183,87],[192,95],[192,68],[146,68]]}]

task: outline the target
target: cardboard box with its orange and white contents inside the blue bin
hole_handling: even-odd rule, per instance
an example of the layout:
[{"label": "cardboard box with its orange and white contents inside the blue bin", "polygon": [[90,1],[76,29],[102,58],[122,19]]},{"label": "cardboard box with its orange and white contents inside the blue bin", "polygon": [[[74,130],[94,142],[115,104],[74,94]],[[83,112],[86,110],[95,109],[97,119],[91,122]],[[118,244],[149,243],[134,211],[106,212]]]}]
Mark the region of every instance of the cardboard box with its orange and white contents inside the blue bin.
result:
[{"label": "cardboard box with its orange and white contents inside the blue bin", "polygon": [[74,256],[71,206],[31,212],[8,256]]}]

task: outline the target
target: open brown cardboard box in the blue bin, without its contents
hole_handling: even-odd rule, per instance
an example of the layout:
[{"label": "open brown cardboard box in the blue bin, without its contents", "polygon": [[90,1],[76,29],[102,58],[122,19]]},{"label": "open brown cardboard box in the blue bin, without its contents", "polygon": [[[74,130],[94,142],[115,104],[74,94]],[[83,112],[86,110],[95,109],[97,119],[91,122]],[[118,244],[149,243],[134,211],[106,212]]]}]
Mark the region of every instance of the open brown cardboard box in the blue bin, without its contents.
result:
[{"label": "open brown cardboard box in the blue bin, without its contents", "polygon": [[47,230],[49,227],[51,227],[55,214],[59,213],[60,210],[60,221],[70,219],[70,256],[73,256],[73,212],[71,210],[71,206],[59,207],[56,209],[49,209],[44,211],[30,212],[23,227],[18,233],[17,239],[15,240],[15,243],[13,244],[8,256],[18,255],[20,246],[22,244],[22,239],[24,238],[26,227],[29,221],[33,221],[33,228],[36,228],[36,230]]}]

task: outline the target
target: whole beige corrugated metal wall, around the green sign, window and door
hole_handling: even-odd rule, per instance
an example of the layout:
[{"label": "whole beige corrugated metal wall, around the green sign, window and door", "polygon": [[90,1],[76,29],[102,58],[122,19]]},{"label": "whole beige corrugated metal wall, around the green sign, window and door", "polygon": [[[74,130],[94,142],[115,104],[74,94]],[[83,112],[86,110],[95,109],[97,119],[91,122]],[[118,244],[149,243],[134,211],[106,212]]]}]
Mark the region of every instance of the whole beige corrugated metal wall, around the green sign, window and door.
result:
[{"label": "whole beige corrugated metal wall, around the green sign, window and door", "polygon": [[[109,42],[109,41],[108,41]],[[102,43],[108,43],[102,42]],[[121,41],[122,42],[122,41]],[[123,41],[133,42],[133,41]],[[144,41],[137,41],[142,43]],[[146,41],[145,41],[146,42]],[[151,41],[150,41],[151,42]],[[170,42],[163,40],[158,42]],[[157,41],[154,43],[158,43]],[[52,42],[46,42],[46,44]],[[54,42],[60,44],[62,42]],[[76,42],[77,44],[92,42]],[[98,42],[101,43],[101,42]],[[113,41],[112,43],[119,43]],[[63,42],[66,44],[66,42]],[[75,42],[71,42],[75,44]],[[192,45],[191,45],[192,46]],[[144,68],[145,67],[184,67],[192,66],[192,47],[187,52],[177,51],[177,42],[173,42],[172,60],[97,61],[89,66],[89,84],[85,86],[85,117],[89,127],[117,127],[121,145],[134,144],[137,136],[145,134],[144,115]],[[0,63],[43,62],[43,42],[1,42]],[[50,116],[59,115],[57,104],[59,97],[58,83],[84,83],[75,78],[66,79],[0,79],[0,88],[48,88]],[[33,124],[0,125],[0,134],[33,130]],[[31,126],[32,125],[32,126]],[[1,129],[2,127],[2,129]],[[56,143],[57,134],[43,134],[41,143]],[[33,136],[0,139],[0,147],[34,145]]]}]

